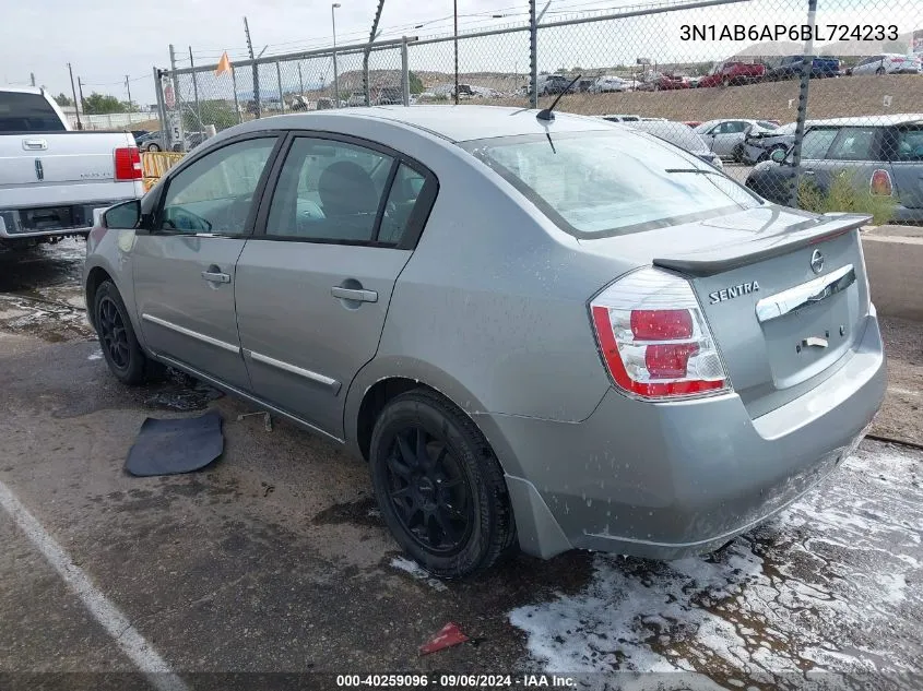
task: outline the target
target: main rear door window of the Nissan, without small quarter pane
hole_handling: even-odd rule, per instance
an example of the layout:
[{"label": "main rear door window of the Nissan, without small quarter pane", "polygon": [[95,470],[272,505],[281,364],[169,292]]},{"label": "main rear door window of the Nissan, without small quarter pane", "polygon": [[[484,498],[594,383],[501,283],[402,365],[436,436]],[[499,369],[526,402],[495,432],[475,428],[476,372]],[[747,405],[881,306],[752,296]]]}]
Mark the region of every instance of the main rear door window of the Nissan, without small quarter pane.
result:
[{"label": "main rear door window of the Nissan, without small quarter pane", "polygon": [[394,160],[351,144],[299,136],[285,158],[267,235],[327,242],[370,242]]}]

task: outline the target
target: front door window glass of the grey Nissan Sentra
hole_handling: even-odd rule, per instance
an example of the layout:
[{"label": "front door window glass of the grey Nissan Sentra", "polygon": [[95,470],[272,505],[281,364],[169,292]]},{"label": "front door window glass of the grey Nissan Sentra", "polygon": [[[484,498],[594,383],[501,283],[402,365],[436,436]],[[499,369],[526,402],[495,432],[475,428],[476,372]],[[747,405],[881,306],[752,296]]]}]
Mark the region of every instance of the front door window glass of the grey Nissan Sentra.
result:
[{"label": "front door window glass of the grey Nissan Sentra", "polygon": [[244,235],[253,193],[275,146],[268,136],[222,146],[170,179],[159,228],[173,233]]}]

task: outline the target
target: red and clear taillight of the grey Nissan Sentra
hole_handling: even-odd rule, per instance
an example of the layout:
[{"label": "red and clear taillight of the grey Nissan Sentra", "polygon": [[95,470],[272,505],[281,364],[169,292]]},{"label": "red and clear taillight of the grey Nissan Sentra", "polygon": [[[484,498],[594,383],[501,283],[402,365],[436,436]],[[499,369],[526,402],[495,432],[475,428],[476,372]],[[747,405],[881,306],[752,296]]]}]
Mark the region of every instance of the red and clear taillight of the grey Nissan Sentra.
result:
[{"label": "red and clear taillight of the grey Nissan Sentra", "polygon": [[603,361],[624,391],[663,398],[730,388],[687,281],[642,269],[603,290],[590,310]]}]

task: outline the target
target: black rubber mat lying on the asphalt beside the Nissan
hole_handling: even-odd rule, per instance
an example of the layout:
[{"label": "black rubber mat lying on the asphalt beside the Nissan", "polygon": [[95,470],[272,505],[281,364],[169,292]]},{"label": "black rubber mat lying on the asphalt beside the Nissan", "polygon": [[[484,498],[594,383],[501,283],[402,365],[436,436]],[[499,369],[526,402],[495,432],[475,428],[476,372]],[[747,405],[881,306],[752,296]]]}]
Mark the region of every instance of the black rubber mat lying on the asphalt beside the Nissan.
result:
[{"label": "black rubber mat lying on the asphalt beside the Nissan", "polygon": [[176,420],[149,417],[128,452],[126,472],[146,477],[204,468],[224,452],[223,421],[216,410]]}]

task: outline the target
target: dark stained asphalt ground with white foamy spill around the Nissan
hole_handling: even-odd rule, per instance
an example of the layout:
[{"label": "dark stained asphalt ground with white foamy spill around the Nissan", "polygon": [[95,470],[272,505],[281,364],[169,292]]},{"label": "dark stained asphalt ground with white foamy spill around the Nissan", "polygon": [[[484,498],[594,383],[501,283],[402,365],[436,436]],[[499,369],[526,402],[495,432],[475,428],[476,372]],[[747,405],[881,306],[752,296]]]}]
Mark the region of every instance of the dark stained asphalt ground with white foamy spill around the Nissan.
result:
[{"label": "dark stained asphalt ground with white foamy spill around the Nissan", "polygon": [[[117,385],[84,322],[82,257],[73,241],[0,251],[0,672],[150,669],[155,652],[190,688],[214,679],[193,672],[228,671],[567,672],[585,688],[923,681],[920,451],[867,440],[708,557],[520,556],[441,583],[399,553],[366,468],[334,446],[283,421],[238,421],[251,410],[186,378]],[[875,431],[919,439],[921,325],[886,321],[884,333],[891,384]],[[226,420],[217,463],[123,474],[145,417],[206,407]],[[29,539],[23,511],[48,539]],[[123,619],[88,609],[75,573]],[[448,621],[474,641],[421,657]],[[132,648],[139,639],[147,647]]]}]

